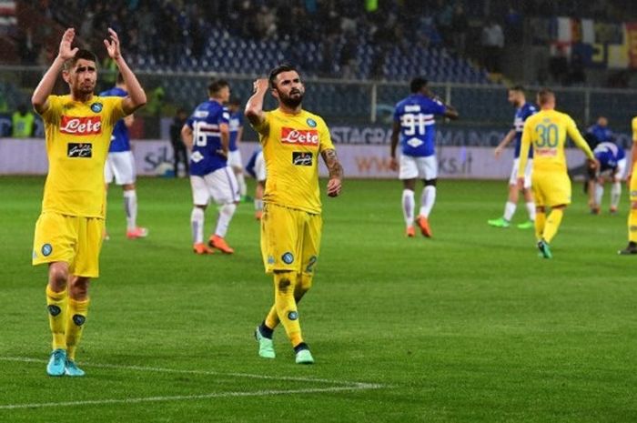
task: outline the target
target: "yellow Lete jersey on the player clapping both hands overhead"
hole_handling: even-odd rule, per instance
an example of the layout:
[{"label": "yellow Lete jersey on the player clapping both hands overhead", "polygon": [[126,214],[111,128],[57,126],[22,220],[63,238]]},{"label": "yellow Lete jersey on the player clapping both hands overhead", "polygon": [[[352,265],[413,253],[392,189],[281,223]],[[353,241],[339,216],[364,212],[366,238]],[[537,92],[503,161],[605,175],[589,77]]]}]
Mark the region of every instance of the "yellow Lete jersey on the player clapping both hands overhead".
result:
[{"label": "yellow Lete jersey on the player clapping both hands overhead", "polygon": [[46,176],[43,211],[104,217],[104,164],[113,126],[124,117],[122,97],[49,96],[45,122]]}]

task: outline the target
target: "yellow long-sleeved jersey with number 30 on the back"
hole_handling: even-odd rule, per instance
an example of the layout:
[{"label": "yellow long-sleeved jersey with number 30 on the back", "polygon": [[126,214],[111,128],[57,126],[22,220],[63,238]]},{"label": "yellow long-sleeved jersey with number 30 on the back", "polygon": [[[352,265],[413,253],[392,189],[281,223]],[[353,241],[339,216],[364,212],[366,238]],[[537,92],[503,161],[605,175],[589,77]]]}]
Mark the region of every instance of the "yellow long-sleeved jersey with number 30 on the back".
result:
[{"label": "yellow long-sleeved jersey with number 30 on the back", "polygon": [[566,172],[564,145],[567,135],[584,151],[586,156],[594,158],[591,148],[586,144],[571,116],[556,110],[541,110],[529,116],[524,122],[522,132],[518,177],[524,177],[524,168],[531,146],[533,172],[538,170]]}]

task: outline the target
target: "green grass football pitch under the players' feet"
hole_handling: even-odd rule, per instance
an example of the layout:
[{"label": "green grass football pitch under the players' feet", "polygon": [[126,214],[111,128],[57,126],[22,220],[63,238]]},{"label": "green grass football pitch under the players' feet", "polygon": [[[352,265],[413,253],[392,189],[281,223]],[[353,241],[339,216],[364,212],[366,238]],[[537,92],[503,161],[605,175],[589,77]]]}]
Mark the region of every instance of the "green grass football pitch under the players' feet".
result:
[{"label": "green grass football pitch under the players' feet", "polygon": [[637,420],[637,257],[617,256],[625,198],[618,216],[591,216],[574,184],[546,260],[532,231],[487,226],[504,181],[441,181],[432,239],[404,237],[398,181],[347,181],[324,200],[300,307],[317,364],[303,367],[280,329],[278,357],[257,356],[252,331],[273,294],[251,204],[227,236],[234,256],[197,257],[186,179],[138,181],[150,236],[136,241],[114,187],[77,357],[87,376],[72,379],[45,375],[45,267],[30,265],[42,186],[0,178],[0,421]]}]

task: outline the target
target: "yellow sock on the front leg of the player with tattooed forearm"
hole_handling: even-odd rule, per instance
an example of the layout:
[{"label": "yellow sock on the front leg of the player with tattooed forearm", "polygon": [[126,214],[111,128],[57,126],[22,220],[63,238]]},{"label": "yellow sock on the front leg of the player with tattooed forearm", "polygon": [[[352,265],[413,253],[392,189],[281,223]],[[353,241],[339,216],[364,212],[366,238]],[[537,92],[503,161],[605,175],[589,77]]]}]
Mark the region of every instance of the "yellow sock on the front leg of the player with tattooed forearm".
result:
[{"label": "yellow sock on the front leg of the player with tattooed forearm", "polygon": [[303,342],[301,327],[298,323],[297,301],[294,299],[294,290],[297,277],[293,272],[281,272],[274,274],[274,305],[277,308],[278,319],[286,329],[292,347]]}]

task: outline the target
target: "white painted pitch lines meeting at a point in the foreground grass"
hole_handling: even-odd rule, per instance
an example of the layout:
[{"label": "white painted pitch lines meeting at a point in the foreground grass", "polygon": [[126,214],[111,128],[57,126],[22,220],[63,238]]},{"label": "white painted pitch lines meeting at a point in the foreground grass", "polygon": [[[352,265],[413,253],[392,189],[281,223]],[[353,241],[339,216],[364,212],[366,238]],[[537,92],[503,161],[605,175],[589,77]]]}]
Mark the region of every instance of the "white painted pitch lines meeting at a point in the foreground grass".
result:
[{"label": "white painted pitch lines meeting at a point in the foreground grass", "polygon": [[[23,358],[23,357],[0,357],[2,361],[18,361],[23,363],[46,363],[46,360],[37,358]],[[63,402],[43,402],[32,404],[6,404],[0,405],[0,409],[18,409],[18,408],[47,408],[47,407],[72,407],[72,406],[86,406],[86,405],[104,405],[104,404],[136,404],[141,402],[167,402],[167,401],[179,401],[179,400],[193,400],[193,399],[208,399],[208,398],[231,398],[231,397],[266,397],[271,395],[295,395],[295,394],[312,394],[312,393],[324,393],[324,392],[339,392],[347,390],[365,390],[365,389],[379,389],[383,388],[382,385],[365,383],[365,382],[353,382],[343,380],[329,380],[321,378],[301,378],[301,377],[287,377],[287,376],[265,376],[254,375],[250,373],[224,373],[210,370],[180,370],[177,368],[153,368],[142,366],[124,366],[114,364],[91,364],[86,363],[87,367],[94,368],[119,368],[135,371],[151,371],[159,373],[180,373],[180,374],[196,374],[196,375],[208,375],[208,376],[234,376],[238,378],[258,378],[269,380],[286,380],[297,382],[312,382],[312,383],[329,383],[332,385],[341,385],[338,387],[329,388],[300,388],[300,389],[267,389],[258,390],[252,392],[236,391],[236,392],[213,392],[210,394],[200,395],[177,395],[167,397],[147,397],[147,398],[112,398],[112,399],[89,399],[83,401],[63,401]]]}]

